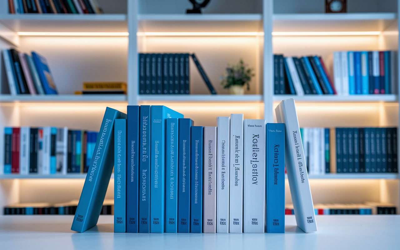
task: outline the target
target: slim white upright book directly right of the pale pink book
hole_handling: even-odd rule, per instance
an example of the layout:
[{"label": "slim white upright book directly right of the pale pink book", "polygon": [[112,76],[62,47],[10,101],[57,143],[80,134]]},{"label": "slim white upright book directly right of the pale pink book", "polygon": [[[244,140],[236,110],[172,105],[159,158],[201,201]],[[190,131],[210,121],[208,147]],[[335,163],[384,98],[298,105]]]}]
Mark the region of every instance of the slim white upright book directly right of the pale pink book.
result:
[{"label": "slim white upright book directly right of the pale pink book", "polygon": [[217,233],[229,232],[230,117],[217,117]]}]

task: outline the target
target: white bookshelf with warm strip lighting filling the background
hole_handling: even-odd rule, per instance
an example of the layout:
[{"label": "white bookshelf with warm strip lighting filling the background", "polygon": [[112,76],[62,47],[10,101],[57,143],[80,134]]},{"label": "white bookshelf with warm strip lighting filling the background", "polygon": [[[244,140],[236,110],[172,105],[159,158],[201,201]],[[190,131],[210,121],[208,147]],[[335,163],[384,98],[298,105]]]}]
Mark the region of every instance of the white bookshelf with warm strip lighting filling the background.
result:
[{"label": "white bookshelf with warm strip lighting filling the background", "polygon": [[[272,74],[274,53],[321,55],[332,73],[333,51],[398,50],[398,1],[378,4],[366,0],[358,5],[348,1],[348,13],[325,14],[320,0],[214,0],[201,15],[184,14],[190,8],[184,0],[98,2],[105,14],[11,15],[7,1],[1,3],[0,36],[4,40],[0,40],[0,48],[15,46],[46,56],[60,95],[10,96],[4,70],[0,71],[0,129],[50,125],[98,130],[105,106],[126,111],[127,104],[164,104],[201,126],[215,126],[216,116],[230,113],[273,122],[274,108],[288,98],[296,100],[300,126],[304,127],[399,125],[398,94],[274,95]],[[209,94],[191,62],[190,95],[139,95],[138,52],[196,53],[219,94]],[[250,91],[242,96],[229,95],[220,86],[219,77],[228,62],[236,63],[240,58],[254,68],[256,76]],[[128,94],[73,95],[84,81],[127,82]],[[0,138],[1,151],[3,145]],[[2,162],[0,156],[1,171]],[[0,175],[0,207],[21,200],[20,194],[32,183],[42,183],[32,193],[32,199],[41,200],[42,193],[47,194],[58,180],[64,189],[57,190],[64,195],[68,193],[66,183],[79,187],[84,176]],[[399,206],[398,174],[324,174],[309,178],[315,203],[384,201]],[[287,185],[286,190],[290,203]]]}]

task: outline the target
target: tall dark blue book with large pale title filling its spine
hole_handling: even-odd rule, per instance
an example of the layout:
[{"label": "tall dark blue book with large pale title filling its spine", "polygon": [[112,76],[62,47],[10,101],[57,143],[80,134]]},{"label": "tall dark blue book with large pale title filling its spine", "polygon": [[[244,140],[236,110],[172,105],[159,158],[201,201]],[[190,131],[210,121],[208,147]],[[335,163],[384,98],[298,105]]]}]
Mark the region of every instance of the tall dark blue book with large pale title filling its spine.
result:
[{"label": "tall dark blue book with large pale title filling its spine", "polygon": [[140,106],[139,232],[150,233],[150,106]]}]

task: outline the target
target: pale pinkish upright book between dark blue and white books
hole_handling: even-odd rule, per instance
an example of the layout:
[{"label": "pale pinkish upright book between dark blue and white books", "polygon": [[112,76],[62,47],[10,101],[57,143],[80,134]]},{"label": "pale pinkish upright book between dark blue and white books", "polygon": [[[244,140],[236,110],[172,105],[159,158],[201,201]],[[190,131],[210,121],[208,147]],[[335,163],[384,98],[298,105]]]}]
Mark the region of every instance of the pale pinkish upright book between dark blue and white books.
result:
[{"label": "pale pinkish upright book between dark blue and white books", "polygon": [[203,232],[216,232],[217,218],[217,128],[204,127]]}]

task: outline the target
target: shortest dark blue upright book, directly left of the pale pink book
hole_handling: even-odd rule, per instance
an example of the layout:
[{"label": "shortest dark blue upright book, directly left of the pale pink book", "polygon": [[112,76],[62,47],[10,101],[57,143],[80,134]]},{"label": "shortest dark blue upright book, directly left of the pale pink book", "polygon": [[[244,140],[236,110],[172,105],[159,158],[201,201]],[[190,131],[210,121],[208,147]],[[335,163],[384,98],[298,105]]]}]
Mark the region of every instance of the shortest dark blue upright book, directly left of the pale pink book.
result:
[{"label": "shortest dark blue upright book, directly left of the pale pink book", "polygon": [[203,232],[203,127],[192,126],[190,135],[190,232]]}]

